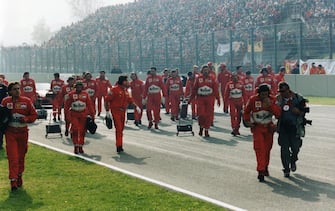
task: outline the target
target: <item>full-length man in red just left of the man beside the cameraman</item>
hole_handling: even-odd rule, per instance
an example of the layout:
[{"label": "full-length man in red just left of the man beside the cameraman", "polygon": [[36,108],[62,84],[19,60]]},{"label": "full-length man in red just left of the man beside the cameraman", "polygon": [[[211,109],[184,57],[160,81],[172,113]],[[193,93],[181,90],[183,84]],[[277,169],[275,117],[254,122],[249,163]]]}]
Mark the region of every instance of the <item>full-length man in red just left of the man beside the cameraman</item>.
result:
[{"label": "full-length man in red just left of the man beside the cameraman", "polygon": [[241,112],[243,109],[244,86],[238,80],[237,73],[232,73],[232,80],[229,81],[225,88],[224,99],[229,103],[230,121],[233,136],[240,135]]}]

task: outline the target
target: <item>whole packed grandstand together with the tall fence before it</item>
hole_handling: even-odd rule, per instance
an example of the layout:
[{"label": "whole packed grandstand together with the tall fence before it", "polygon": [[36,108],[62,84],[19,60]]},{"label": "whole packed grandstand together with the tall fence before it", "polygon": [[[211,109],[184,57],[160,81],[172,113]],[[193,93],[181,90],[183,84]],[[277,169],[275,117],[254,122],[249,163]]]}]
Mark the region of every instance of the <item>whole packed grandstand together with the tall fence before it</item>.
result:
[{"label": "whole packed grandstand together with the tall fence before it", "polygon": [[4,72],[111,72],[333,58],[333,0],[139,0],[100,8],[42,46],[1,49]]}]

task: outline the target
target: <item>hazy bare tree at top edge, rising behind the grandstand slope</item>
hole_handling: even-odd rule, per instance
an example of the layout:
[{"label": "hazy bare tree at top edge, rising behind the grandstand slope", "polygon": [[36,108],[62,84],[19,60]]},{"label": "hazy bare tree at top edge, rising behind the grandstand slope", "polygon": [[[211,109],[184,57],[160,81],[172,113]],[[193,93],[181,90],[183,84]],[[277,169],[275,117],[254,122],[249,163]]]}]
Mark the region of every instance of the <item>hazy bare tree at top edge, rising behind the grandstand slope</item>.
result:
[{"label": "hazy bare tree at top edge, rising behind the grandstand slope", "polygon": [[103,0],[67,0],[67,2],[71,7],[72,15],[79,19],[87,17],[103,6]]}]

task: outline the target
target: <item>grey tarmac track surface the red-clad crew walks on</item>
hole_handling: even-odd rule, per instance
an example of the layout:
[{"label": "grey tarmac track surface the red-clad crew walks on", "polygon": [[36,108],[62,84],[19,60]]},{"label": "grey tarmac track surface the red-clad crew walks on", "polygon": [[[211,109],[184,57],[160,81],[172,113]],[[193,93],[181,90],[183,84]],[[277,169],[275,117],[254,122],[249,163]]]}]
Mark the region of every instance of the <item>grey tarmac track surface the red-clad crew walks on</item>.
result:
[{"label": "grey tarmac track surface the red-clad crew walks on", "polygon": [[[335,106],[311,106],[307,118],[313,125],[306,127],[297,171],[290,178],[283,176],[275,134],[265,183],[257,180],[250,130],[241,126],[241,135],[233,137],[230,117],[222,113],[222,107],[216,108],[209,138],[198,135],[196,121],[194,136],[176,136],[177,122],[164,112],[159,129],[147,129],[145,113],[139,127],[128,121],[121,154],[116,153],[115,129],[104,125],[104,114],[97,117],[97,133],[87,134],[85,154],[80,156],[232,210],[335,210]],[[45,138],[48,124],[48,120],[37,120],[30,126],[29,139],[72,154],[69,137],[49,134]]]}]

